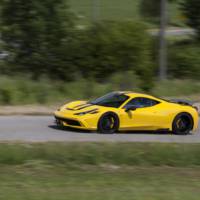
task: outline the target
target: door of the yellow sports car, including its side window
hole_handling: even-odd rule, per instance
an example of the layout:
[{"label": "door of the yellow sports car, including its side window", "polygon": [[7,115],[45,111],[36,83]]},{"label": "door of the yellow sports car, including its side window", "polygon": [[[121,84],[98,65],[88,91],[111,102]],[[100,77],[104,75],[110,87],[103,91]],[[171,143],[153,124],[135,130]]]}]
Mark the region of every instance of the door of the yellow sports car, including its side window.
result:
[{"label": "door of the yellow sports car, including its side window", "polygon": [[[160,121],[158,120],[158,106],[161,102],[144,97],[136,97],[130,100],[121,110],[121,128],[134,130],[156,130]],[[134,106],[136,110],[126,108]]]}]

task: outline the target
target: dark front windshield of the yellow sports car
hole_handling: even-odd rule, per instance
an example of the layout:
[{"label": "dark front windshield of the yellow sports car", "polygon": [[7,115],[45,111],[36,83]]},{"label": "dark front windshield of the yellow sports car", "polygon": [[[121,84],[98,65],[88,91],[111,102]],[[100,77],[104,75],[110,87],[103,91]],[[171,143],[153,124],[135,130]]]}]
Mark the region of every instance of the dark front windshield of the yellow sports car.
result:
[{"label": "dark front windshield of the yellow sports car", "polygon": [[119,108],[126,100],[128,96],[120,93],[109,93],[103,97],[90,101],[89,103],[99,106]]}]

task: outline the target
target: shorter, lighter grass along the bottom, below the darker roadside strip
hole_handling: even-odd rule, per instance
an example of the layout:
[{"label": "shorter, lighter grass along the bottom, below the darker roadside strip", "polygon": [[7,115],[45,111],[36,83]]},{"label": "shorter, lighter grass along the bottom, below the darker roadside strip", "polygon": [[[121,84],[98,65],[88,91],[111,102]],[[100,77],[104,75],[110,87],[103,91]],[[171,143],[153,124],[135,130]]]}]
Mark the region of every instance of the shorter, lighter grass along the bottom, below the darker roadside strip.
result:
[{"label": "shorter, lighter grass along the bottom, below the darker roadside strip", "polygon": [[200,168],[67,170],[0,167],[0,198],[12,200],[199,200]]}]

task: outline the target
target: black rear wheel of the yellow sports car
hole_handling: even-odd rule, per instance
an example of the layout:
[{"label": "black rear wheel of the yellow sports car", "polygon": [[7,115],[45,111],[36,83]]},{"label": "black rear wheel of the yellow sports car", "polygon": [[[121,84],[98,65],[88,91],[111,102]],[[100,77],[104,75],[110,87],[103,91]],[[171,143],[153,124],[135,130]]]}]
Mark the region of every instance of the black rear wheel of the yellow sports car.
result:
[{"label": "black rear wheel of the yellow sports car", "polygon": [[176,135],[187,135],[193,129],[193,118],[189,113],[178,114],[172,123],[172,132]]}]

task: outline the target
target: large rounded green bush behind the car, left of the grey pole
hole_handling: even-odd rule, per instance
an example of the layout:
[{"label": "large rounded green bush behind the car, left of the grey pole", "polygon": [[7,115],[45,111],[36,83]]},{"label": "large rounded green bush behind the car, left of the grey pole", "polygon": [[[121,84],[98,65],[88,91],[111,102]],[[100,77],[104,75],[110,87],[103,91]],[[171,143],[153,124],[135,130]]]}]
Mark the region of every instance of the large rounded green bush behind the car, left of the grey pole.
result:
[{"label": "large rounded green bush behind the car, left of the grey pole", "polygon": [[151,39],[144,24],[98,23],[80,32],[79,45],[73,60],[83,77],[102,81],[115,72],[133,71],[145,80],[141,87],[151,87]]}]

